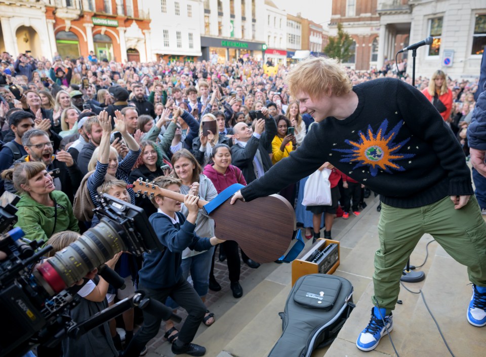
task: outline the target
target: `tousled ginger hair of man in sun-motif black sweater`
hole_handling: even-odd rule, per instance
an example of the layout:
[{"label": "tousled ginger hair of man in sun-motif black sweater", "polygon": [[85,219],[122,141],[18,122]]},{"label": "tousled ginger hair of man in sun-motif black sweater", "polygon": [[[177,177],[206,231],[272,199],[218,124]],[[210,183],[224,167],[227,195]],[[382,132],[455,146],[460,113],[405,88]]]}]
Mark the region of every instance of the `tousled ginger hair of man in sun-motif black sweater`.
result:
[{"label": "tousled ginger hair of man in sun-motif black sweater", "polygon": [[286,82],[293,97],[302,91],[312,99],[329,90],[340,96],[353,87],[339,60],[327,57],[310,57],[298,63],[287,75]]}]

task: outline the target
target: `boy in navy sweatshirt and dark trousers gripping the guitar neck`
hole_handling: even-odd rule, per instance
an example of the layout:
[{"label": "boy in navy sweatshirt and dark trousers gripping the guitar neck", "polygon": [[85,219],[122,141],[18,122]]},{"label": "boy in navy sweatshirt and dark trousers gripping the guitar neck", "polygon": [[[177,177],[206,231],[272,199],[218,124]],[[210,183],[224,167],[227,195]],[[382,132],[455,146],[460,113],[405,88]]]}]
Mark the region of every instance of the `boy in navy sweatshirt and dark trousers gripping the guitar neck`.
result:
[{"label": "boy in navy sweatshirt and dark trousers gripping the guitar neck", "polygon": [[[154,180],[154,184],[179,192],[181,180],[160,176]],[[172,344],[172,352],[202,356],[206,353],[206,348],[191,343],[191,341],[203,321],[206,306],[192,285],[182,276],[182,251],[187,247],[196,251],[204,251],[224,241],[216,237],[201,238],[194,233],[199,210],[197,196],[184,196],[184,205],[189,210],[187,218],[179,212],[181,203],[178,201],[161,195],[153,196],[150,200],[157,208],[157,212],[149,218],[150,224],[160,243],[167,249],[164,252],[153,250],[144,254],[143,265],[139,271],[139,285],[151,298],[164,303],[170,296],[187,310],[187,319],[178,333],[178,338]],[[143,325],[128,345],[124,356],[138,357],[147,342],[157,335],[161,322],[161,318],[144,311]]]}]

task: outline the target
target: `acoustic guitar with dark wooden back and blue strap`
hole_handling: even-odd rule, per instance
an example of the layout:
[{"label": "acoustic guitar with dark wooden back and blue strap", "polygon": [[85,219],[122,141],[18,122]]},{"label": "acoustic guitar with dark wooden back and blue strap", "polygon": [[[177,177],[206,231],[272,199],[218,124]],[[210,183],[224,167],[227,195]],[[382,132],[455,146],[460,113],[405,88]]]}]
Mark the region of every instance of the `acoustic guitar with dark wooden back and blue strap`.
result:
[{"label": "acoustic guitar with dark wooden back and blue strap", "polygon": [[[138,179],[133,185],[138,195],[161,195],[184,202],[182,193],[160,188],[153,182]],[[294,236],[296,218],[294,208],[284,197],[272,194],[250,202],[237,200],[233,205],[230,201],[231,196],[209,213],[219,239],[237,242],[248,257],[259,263],[273,262],[286,253]],[[208,203],[199,200],[197,205],[204,209]]]}]

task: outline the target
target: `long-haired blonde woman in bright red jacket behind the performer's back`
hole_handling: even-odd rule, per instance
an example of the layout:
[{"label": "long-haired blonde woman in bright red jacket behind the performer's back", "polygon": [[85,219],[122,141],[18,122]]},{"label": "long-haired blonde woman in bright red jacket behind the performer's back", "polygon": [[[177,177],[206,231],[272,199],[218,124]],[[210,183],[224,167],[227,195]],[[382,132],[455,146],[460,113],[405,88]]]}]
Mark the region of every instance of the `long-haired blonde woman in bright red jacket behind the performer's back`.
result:
[{"label": "long-haired blonde woman in bright red jacket behind the performer's back", "polygon": [[440,69],[436,70],[430,78],[429,87],[425,88],[422,93],[447,122],[452,111],[452,91],[447,87],[446,73]]}]

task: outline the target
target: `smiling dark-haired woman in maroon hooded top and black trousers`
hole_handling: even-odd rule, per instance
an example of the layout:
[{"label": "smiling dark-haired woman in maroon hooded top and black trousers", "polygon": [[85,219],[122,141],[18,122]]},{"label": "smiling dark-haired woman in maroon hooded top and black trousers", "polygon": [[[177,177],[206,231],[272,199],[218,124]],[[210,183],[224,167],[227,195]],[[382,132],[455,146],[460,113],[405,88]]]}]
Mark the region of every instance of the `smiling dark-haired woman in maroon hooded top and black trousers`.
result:
[{"label": "smiling dark-haired woman in maroon hooded top and black trousers", "polygon": [[[225,188],[234,183],[246,185],[245,177],[241,174],[241,170],[236,166],[231,165],[231,151],[226,144],[218,144],[213,148],[212,153],[213,164],[208,164],[204,168],[203,174],[206,175],[212,182],[216,191],[221,193]],[[235,298],[243,295],[243,289],[239,284],[240,260],[238,254],[238,244],[234,241],[226,241],[222,243],[224,253],[226,254],[229,281],[231,283],[231,291]],[[220,247],[221,249],[221,247]],[[211,273],[209,277],[210,289],[221,290],[220,285],[214,277],[214,256],[211,265]]]}]

